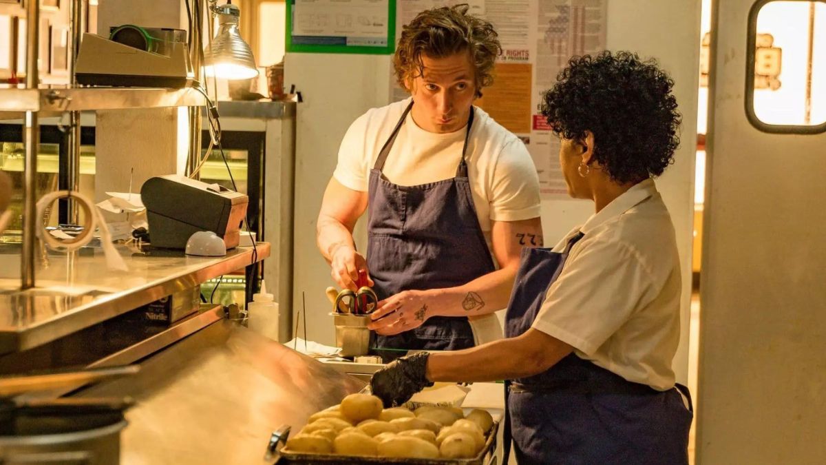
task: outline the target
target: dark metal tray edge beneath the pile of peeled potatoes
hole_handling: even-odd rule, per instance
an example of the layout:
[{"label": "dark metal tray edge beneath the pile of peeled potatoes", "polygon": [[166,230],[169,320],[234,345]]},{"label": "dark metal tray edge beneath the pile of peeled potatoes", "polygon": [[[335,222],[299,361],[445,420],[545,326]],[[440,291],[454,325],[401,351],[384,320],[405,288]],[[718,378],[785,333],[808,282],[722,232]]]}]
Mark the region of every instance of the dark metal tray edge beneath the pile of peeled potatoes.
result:
[{"label": "dark metal tray edge beneath the pile of peeled potatoes", "polygon": [[[320,453],[292,453],[281,449],[278,465],[355,465],[358,463],[389,463],[398,465],[495,465],[496,464],[496,431],[499,429],[499,422],[494,421],[491,430],[487,433],[487,441],[482,451],[474,458],[387,458],[387,457],[361,457],[349,455],[320,454]],[[280,443],[287,442],[287,435],[278,438]],[[273,433],[273,437],[275,434]],[[283,447],[283,446],[281,446]]]}]

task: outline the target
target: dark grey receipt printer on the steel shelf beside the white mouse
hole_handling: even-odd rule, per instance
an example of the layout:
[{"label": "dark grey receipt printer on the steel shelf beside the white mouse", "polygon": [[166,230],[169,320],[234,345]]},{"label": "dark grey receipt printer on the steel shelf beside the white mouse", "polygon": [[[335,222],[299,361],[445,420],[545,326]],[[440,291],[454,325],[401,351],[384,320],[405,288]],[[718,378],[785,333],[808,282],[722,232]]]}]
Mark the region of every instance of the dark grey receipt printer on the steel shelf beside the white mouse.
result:
[{"label": "dark grey receipt printer on the steel shelf beside the white mouse", "polygon": [[154,247],[183,249],[198,231],[215,232],[226,248],[238,245],[249,199],[221,185],[177,175],[147,180],[140,188]]}]

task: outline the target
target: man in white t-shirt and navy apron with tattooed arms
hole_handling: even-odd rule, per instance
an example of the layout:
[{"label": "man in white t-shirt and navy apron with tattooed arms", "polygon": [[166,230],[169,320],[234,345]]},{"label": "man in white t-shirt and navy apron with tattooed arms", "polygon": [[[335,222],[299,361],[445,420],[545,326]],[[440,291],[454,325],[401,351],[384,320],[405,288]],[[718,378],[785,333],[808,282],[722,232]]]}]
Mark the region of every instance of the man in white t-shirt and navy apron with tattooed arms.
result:
[{"label": "man in white t-shirt and navy apron with tattooed arms", "polygon": [[[493,313],[507,304],[520,251],[542,245],[533,161],[472,105],[500,53],[493,26],[467,6],[421,12],[394,57],[411,98],[369,110],[341,142],[317,243],[342,288],[356,290],[367,271],[381,299],[370,325],[379,348],[501,338]],[[352,236],[365,210],[366,258]]]}]

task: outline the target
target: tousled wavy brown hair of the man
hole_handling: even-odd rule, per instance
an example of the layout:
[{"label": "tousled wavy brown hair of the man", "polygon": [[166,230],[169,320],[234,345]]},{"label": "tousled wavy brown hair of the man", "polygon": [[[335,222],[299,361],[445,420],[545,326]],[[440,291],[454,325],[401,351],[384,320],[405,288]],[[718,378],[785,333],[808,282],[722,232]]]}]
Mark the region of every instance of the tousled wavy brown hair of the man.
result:
[{"label": "tousled wavy brown hair of the man", "polygon": [[493,65],[502,52],[499,36],[490,22],[468,14],[468,8],[463,3],[425,10],[402,27],[393,68],[403,89],[410,91],[410,79],[424,72],[422,55],[444,58],[466,50],[476,70],[477,97],[493,84]]}]

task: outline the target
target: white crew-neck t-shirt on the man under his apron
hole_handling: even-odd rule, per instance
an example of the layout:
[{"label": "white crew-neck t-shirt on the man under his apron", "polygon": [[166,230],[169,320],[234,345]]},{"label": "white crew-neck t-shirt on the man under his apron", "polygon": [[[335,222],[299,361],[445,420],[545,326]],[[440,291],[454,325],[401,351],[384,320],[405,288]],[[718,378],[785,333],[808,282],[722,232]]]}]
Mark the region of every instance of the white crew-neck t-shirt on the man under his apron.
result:
[{"label": "white crew-neck t-shirt on the man under his apron", "polygon": [[[372,108],[350,125],[333,176],[349,189],[367,191],[370,170],[411,98]],[[539,176],[525,144],[481,108],[474,108],[465,160],[473,205],[491,247],[491,220],[539,218]],[[382,172],[397,185],[422,185],[456,176],[467,127],[437,134],[407,114]]]}]

